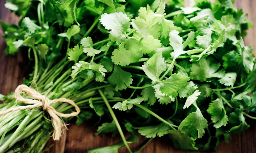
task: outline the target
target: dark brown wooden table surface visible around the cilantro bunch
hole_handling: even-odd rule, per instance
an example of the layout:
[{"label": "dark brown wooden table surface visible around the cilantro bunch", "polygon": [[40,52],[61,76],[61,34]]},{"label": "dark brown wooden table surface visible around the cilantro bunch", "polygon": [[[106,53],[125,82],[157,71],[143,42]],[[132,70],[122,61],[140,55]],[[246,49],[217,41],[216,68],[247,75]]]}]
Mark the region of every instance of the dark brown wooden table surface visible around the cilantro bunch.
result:
[{"label": "dark brown wooden table surface visible around the cilantro bunch", "polygon": [[[0,0],[0,20],[7,23],[17,23],[18,17],[11,13],[4,7],[5,0]],[[242,8],[245,13],[248,13],[248,20],[256,24],[256,1],[255,0],[237,0],[235,4],[236,8]],[[0,30],[0,35],[3,31]],[[248,36],[244,39],[246,45],[251,45],[256,48],[256,28],[248,30]],[[8,94],[14,91],[15,88],[23,83],[23,78],[28,76],[25,67],[26,61],[23,58],[23,53],[18,52],[16,56],[7,55],[5,56],[5,41],[0,37],[0,93]],[[254,50],[256,53],[256,50]],[[25,55],[27,56],[27,55]],[[61,152],[86,152],[87,149],[95,147],[103,147],[112,145],[119,140],[120,137],[110,136],[94,136],[93,133],[97,130],[93,125],[82,124],[77,126],[74,122],[68,125],[68,131],[66,135],[62,137],[61,141],[54,142],[54,146],[50,149],[50,152],[61,153]],[[128,137],[129,135],[126,134]],[[256,126],[251,126],[244,134],[235,134],[229,143],[223,142],[217,148],[219,153],[255,153],[256,152]],[[143,136],[139,136],[140,140],[145,140]],[[169,139],[153,139],[141,152],[145,153],[157,153],[157,152],[182,152],[181,150],[175,149],[170,143]],[[50,142],[49,144],[51,144]],[[136,149],[140,144],[131,144],[131,149]],[[123,147],[119,152],[127,152],[126,148]],[[196,151],[202,152],[202,151]]]}]

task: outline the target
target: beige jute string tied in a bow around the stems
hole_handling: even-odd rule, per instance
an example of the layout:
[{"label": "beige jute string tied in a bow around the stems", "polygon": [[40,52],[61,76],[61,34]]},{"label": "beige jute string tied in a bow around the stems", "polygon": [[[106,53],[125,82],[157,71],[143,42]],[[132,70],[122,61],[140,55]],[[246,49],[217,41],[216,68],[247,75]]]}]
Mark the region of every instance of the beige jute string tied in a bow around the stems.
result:
[{"label": "beige jute string tied in a bow around the stems", "polygon": [[[23,92],[27,93],[28,96],[30,96],[34,100],[22,97],[20,94],[23,93]],[[51,117],[51,122],[52,122],[52,125],[54,127],[54,131],[53,131],[53,135],[52,135],[54,140],[59,140],[60,139],[62,128],[64,126],[63,121],[59,117],[68,118],[68,117],[71,117],[71,116],[77,116],[80,112],[79,107],[74,103],[73,100],[70,100],[70,99],[67,99],[67,98],[58,98],[58,99],[50,100],[50,99],[46,98],[44,95],[41,95],[36,90],[34,90],[34,89],[32,89],[32,88],[30,88],[26,85],[19,85],[15,90],[14,97],[18,101],[21,101],[24,104],[29,104],[29,105],[7,109],[3,112],[0,112],[0,116],[2,116],[4,114],[7,114],[9,112],[12,112],[12,111],[16,111],[16,110],[42,107],[43,110],[47,111],[48,114]],[[76,112],[72,112],[70,114],[63,114],[63,113],[57,112],[51,106],[51,104],[56,103],[56,102],[69,103],[72,106],[74,106],[74,108],[76,109]]]}]

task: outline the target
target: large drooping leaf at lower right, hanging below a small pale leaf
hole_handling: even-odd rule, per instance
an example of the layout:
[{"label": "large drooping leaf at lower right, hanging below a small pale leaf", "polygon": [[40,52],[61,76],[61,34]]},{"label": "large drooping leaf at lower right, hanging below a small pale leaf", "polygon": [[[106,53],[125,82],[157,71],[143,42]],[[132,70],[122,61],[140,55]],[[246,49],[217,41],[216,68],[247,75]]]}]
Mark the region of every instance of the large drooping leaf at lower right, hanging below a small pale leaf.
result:
[{"label": "large drooping leaf at lower right, hanging below a small pale leaf", "polygon": [[201,138],[208,127],[207,120],[203,117],[200,109],[196,106],[196,112],[188,114],[188,116],[180,123],[178,130],[193,138]]}]

